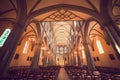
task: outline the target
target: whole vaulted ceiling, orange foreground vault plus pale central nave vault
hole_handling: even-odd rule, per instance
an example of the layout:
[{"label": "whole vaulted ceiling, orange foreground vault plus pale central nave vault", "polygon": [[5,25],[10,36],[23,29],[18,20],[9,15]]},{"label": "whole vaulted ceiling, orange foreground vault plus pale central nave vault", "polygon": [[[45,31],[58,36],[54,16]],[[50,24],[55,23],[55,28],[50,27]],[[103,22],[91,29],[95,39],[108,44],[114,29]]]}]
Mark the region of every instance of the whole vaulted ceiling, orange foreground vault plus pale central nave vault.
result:
[{"label": "whole vaulted ceiling, orange foreground vault plus pale central nave vault", "polygon": [[[97,18],[102,2],[103,0],[1,0],[0,24],[3,24],[5,19],[13,21],[35,19],[50,22],[50,32],[53,36],[50,39],[53,39],[51,42],[54,41],[54,47],[61,45],[68,47],[74,44],[74,42],[71,44],[71,37],[76,37],[77,33],[73,29],[77,23],[74,21],[82,22],[90,17]],[[119,16],[120,1],[112,0],[112,5],[112,14]],[[1,25],[0,29],[2,27]]]}]

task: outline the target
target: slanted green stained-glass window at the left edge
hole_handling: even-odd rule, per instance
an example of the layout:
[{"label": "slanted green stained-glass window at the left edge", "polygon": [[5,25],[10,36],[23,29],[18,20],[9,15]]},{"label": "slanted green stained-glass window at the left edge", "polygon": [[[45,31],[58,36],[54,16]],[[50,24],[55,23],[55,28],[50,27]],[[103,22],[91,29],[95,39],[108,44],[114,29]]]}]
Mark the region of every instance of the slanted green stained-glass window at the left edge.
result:
[{"label": "slanted green stained-glass window at the left edge", "polygon": [[9,28],[5,29],[5,31],[3,32],[3,34],[0,37],[0,47],[3,46],[7,37],[9,36],[10,32],[11,32],[11,29],[9,29]]}]

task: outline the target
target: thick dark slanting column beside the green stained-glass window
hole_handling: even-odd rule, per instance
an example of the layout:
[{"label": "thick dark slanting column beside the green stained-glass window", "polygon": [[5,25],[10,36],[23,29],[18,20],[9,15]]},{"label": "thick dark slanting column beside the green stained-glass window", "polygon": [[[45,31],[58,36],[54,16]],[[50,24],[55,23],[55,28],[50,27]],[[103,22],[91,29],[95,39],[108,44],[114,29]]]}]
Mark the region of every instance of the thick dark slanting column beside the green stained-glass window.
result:
[{"label": "thick dark slanting column beside the green stained-glass window", "polygon": [[23,32],[24,25],[19,23],[14,24],[13,30],[0,50],[0,72],[2,72],[0,75],[6,75],[6,71],[9,68],[10,62],[18,45],[18,41],[20,40]]}]

